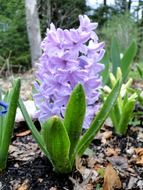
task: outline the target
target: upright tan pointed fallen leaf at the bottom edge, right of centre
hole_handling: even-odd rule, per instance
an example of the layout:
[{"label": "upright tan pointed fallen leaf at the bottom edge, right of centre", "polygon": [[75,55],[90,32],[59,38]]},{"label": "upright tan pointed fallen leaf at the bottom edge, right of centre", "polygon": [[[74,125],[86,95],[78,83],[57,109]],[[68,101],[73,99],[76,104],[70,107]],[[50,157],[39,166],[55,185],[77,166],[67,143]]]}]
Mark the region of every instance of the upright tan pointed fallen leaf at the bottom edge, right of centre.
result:
[{"label": "upright tan pointed fallen leaf at the bottom edge, right of centre", "polygon": [[103,190],[114,190],[115,188],[121,189],[122,184],[116,170],[109,163],[105,168]]}]

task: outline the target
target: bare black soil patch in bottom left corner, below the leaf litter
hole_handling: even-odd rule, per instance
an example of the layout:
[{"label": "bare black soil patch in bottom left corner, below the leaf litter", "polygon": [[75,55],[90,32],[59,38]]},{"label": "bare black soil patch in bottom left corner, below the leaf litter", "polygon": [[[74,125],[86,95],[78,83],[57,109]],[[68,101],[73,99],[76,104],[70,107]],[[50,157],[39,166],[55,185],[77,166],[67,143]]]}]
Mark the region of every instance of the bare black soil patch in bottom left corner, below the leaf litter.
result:
[{"label": "bare black soil patch in bottom left corner, below the leaf litter", "polygon": [[18,189],[25,184],[25,189],[42,190],[55,187],[72,189],[68,176],[58,176],[45,157],[35,158],[28,162],[9,160],[8,169],[1,175],[3,190]]}]

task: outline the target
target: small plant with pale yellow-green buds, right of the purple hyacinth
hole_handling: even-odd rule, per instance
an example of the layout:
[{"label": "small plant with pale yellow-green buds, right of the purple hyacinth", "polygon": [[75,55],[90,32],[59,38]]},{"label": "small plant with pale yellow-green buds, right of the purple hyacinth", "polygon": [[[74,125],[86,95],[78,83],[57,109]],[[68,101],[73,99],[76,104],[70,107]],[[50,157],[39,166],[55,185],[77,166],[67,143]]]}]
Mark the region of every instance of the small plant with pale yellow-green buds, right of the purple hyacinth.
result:
[{"label": "small plant with pale yellow-green buds, right of the purple hyacinth", "polygon": [[[117,69],[116,77],[110,73],[111,88],[109,86],[105,86],[104,91],[107,94],[110,93],[116,82],[121,78],[122,72],[120,68]],[[129,122],[133,116],[135,102],[138,96],[136,92],[130,93],[131,84],[132,79],[129,79],[126,84],[122,84],[117,102],[110,113],[110,118],[112,120],[113,126],[115,127],[115,131],[119,135],[124,135],[127,132]]]}]

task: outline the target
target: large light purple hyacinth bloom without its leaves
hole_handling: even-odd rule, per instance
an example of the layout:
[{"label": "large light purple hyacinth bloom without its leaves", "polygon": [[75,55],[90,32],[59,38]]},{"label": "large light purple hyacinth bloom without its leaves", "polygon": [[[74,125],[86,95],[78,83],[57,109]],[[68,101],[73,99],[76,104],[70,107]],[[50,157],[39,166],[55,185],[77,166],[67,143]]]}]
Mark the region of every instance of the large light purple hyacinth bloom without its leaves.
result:
[{"label": "large light purple hyacinth bloom without its leaves", "polygon": [[43,54],[37,64],[33,95],[40,122],[52,115],[64,117],[70,94],[78,83],[86,93],[85,128],[99,109],[104,43],[98,42],[94,31],[97,23],[92,23],[86,15],[80,15],[79,21],[79,27],[70,30],[56,29],[51,24],[41,44]]}]

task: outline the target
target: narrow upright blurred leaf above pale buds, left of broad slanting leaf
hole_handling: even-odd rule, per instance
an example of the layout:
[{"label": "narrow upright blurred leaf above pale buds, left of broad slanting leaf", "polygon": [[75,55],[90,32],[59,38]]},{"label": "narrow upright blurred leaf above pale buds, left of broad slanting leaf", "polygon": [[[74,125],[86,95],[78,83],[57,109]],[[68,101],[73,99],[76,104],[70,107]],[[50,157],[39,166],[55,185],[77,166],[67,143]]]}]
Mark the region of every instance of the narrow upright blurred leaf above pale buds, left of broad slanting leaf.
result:
[{"label": "narrow upright blurred leaf above pale buds, left of broad slanting leaf", "polygon": [[120,62],[121,62],[119,44],[116,38],[113,38],[111,43],[111,62],[112,62],[112,72],[115,75],[117,72],[117,68],[120,67]]}]

